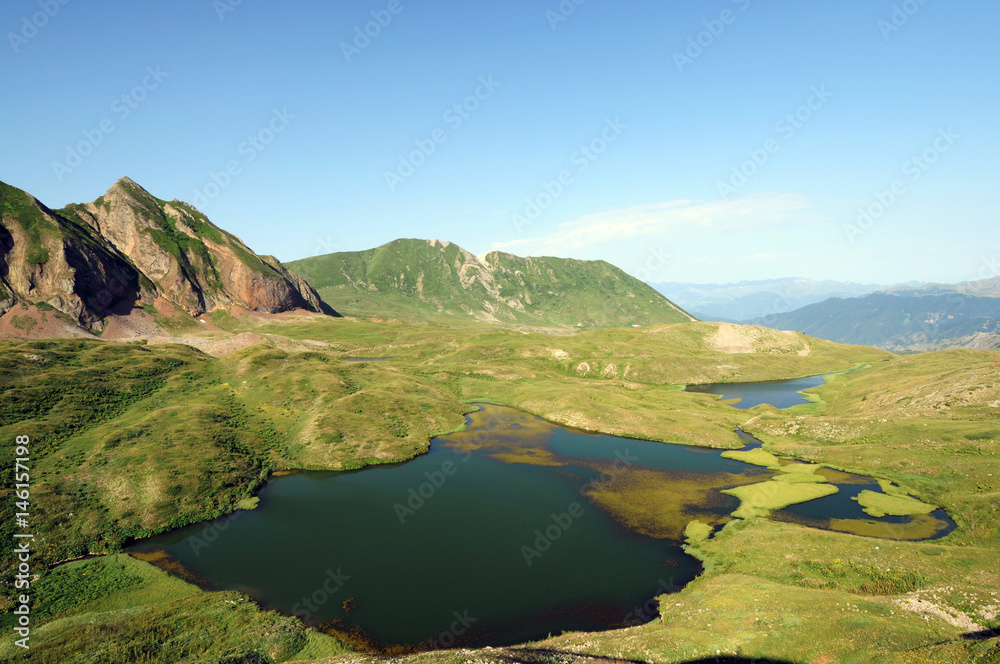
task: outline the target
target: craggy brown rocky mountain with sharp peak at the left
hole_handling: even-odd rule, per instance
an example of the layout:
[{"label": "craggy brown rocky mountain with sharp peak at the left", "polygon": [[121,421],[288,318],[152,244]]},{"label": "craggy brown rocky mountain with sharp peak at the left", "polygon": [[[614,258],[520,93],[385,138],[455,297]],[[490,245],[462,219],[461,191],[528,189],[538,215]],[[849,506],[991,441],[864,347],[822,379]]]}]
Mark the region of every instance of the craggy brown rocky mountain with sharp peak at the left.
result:
[{"label": "craggy brown rocky mountain with sharp peak at the left", "polygon": [[273,257],[128,178],[58,211],[0,183],[0,314],[18,299],[45,302],[99,330],[112,310],[157,296],[191,315],[233,305],[336,314]]}]

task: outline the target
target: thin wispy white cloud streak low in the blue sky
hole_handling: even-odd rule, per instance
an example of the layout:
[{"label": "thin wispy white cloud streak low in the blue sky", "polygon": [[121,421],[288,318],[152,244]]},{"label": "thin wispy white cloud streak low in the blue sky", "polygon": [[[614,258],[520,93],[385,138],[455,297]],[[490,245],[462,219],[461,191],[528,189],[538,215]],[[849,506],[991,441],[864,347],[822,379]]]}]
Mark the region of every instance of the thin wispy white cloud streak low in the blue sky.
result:
[{"label": "thin wispy white cloud streak low in the blue sky", "polygon": [[623,238],[659,236],[678,230],[747,231],[795,220],[809,207],[798,194],[756,194],[720,201],[676,200],[590,214],[560,224],[545,237],[497,242],[493,249],[519,255],[565,255]]}]

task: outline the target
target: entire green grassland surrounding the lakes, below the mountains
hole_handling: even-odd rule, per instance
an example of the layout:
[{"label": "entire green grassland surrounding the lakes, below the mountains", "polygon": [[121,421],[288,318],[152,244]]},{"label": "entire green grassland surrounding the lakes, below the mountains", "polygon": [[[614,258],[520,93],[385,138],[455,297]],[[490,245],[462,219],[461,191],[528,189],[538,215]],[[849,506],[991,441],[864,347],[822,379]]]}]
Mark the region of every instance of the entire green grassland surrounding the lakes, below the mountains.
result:
[{"label": "entire green grassland surrounding the lakes, below the mountains", "polygon": [[[200,591],[115,552],[129,537],[231,512],[275,470],[411,458],[430,436],[462,426],[469,401],[488,400],[663,442],[735,448],[732,432],[742,426],[774,454],[891,480],[946,508],[958,528],[941,540],[899,542],[737,520],[689,545],[705,572],[637,607],[651,622],[397,659],[1000,661],[992,631],[1000,629],[996,353],[900,357],[760,328],[734,341],[732,329],[702,323],[555,337],[306,318],[213,322],[259,343],[219,357],[142,342],[0,343],[0,432],[41,441],[33,458],[38,568],[114,554],[46,572],[31,650],[12,645],[7,613],[0,659],[379,661],[242,595]],[[353,357],[388,359],[344,360]],[[813,403],[784,411],[739,411],[682,389],[862,363],[815,390]],[[9,610],[12,589],[4,590]]]}]

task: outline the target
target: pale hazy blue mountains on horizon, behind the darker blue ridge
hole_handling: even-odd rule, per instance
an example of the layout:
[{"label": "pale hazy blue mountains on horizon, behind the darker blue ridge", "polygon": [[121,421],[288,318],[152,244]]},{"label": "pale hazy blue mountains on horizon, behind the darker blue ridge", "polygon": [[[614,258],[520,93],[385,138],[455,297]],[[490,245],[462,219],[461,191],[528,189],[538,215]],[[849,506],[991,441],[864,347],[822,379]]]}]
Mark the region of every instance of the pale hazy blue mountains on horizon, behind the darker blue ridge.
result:
[{"label": "pale hazy blue mountains on horizon, behind the darker blue ridge", "polygon": [[735,322],[793,311],[831,297],[855,297],[885,288],[876,284],[810,279],[768,279],[733,284],[651,284],[702,320]]}]

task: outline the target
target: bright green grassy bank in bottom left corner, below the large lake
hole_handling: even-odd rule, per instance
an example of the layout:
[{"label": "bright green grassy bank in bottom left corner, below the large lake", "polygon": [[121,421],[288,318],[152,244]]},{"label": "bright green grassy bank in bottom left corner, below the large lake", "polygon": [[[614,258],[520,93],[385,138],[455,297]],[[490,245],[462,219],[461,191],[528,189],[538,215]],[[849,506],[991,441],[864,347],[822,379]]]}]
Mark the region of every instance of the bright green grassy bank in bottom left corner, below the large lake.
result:
[{"label": "bright green grassy bank in bottom left corner, below the large lake", "polygon": [[[129,556],[69,563],[35,589],[31,648],[0,642],[0,660],[33,664],[282,662],[344,648],[234,592],[205,593]],[[0,621],[10,632],[12,615]],[[87,644],[81,647],[81,644]],[[266,657],[267,659],[263,659]]]}]

